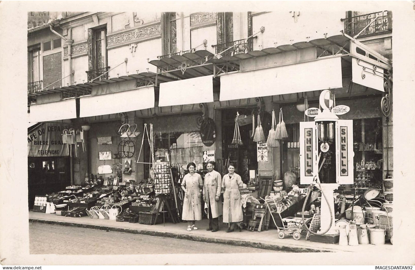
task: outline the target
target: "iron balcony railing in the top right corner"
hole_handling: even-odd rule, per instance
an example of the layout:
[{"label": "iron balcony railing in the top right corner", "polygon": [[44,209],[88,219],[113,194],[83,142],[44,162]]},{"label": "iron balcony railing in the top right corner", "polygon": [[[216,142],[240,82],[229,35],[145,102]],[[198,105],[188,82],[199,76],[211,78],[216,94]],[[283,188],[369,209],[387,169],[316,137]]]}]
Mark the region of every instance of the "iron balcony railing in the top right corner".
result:
[{"label": "iron balcony railing in the top right corner", "polygon": [[[379,17],[378,17],[379,16]],[[378,17],[371,25],[369,23]],[[373,34],[381,34],[392,32],[392,13],[388,11],[380,11],[359,15],[343,19],[344,32],[351,37],[359,34],[367,25],[367,27],[359,37],[369,36]]]}]

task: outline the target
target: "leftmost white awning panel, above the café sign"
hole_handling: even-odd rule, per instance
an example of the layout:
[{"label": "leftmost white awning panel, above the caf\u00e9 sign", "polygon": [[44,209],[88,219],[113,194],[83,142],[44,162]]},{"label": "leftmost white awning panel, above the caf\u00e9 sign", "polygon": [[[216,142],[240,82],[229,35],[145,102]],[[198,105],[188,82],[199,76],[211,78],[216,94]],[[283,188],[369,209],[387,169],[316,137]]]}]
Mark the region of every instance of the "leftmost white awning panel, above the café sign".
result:
[{"label": "leftmost white awning panel, above the caf\u00e9 sign", "polygon": [[76,101],[63,101],[30,105],[29,122],[47,122],[76,118]]}]

